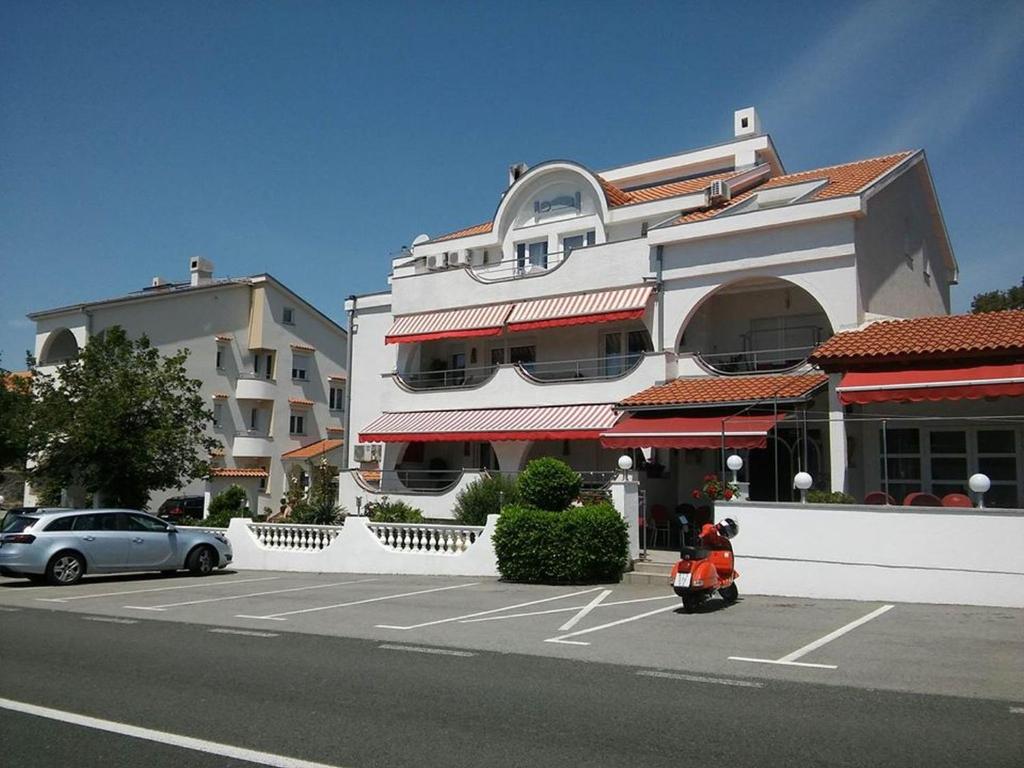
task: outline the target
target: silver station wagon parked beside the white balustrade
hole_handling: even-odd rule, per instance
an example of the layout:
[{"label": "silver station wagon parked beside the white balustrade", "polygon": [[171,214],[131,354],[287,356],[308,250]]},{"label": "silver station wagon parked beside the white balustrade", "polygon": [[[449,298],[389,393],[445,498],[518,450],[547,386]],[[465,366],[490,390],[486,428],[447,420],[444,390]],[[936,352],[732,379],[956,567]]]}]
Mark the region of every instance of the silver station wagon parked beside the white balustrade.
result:
[{"label": "silver station wagon parked beside the white balustrade", "polygon": [[136,570],[206,575],[230,562],[222,534],[178,528],[128,509],[12,512],[0,527],[0,574],[53,585]]}]

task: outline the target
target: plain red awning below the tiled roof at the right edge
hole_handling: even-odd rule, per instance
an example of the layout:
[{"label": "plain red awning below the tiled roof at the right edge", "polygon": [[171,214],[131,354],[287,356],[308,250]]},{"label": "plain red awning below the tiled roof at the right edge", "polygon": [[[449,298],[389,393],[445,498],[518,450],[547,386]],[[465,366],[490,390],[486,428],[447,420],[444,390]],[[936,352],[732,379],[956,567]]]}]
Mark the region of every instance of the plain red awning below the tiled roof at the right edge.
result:
[{"label": "plain red awning below the tiled roof at the right edge", "polygon": [[844,406],[1024,397],[1024,364],[846,374],[837,391]]}]

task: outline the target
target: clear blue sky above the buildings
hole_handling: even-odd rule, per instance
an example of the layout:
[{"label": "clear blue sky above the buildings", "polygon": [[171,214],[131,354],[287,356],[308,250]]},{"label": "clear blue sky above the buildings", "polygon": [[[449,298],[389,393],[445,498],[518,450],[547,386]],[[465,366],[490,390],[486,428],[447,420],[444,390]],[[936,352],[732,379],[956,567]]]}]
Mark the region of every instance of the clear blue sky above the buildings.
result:
[{"label": "clear blue sky above the buildings", "polygon": [[716,143],[787,170],[924,147],[971,296],[1024,273],[1020,2],[0,3],[0,353],[187,259],[341,319],[511,163]]}]

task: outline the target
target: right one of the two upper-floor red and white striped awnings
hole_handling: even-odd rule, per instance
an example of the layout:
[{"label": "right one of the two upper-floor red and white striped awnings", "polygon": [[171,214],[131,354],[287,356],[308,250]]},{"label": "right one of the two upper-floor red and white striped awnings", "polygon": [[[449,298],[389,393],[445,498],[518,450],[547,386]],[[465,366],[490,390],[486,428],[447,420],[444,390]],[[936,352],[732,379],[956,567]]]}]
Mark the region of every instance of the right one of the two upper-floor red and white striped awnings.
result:
[{"label": "right one of the two upper-floor red and white striped awnings", "polygon": [[519,302],[509,316],[509,331],[636,319],[653,291],[653,286],[639,286]]}]

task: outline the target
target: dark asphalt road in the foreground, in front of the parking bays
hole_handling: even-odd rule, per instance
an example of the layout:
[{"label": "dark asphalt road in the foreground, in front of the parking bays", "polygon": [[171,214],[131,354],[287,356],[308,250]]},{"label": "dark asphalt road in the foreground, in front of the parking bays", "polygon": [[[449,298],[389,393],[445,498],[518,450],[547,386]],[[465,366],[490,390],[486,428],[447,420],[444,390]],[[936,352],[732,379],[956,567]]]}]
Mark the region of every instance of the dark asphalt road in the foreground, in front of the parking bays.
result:
[{"label": "dark asphalt road in the foreground, in front of the parking bays", "polygon": [[[0,613],[0,698],[351,768],[994,768],[1024,757],[1024,714],[994,698],[210,629]],[[249,764],[2,707],[0,749],[5,768]]]}]

